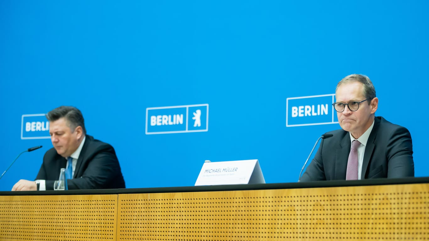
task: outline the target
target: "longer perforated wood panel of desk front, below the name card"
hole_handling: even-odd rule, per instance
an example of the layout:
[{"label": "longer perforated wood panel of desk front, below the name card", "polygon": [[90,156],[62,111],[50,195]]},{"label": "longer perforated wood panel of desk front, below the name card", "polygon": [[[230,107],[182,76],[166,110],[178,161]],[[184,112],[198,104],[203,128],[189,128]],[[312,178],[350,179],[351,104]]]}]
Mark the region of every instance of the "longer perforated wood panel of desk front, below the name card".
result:
[{"label": "longer perforated wood panel of desk front, below the name card", "polygon": [[117,240],[428,240],[429,184],[120,194]]}]

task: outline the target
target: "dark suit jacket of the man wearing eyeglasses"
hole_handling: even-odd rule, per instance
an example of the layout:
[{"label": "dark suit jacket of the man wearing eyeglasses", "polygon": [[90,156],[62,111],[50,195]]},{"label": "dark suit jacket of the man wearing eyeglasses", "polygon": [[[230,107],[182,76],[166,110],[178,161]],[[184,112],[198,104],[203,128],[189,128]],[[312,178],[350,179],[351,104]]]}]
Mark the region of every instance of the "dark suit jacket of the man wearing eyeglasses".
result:
[{"label": "dark suit jacket of the man wearing eyeglasses", "polygon": [[[301,181],[345,180],[350,153],[350,134],[334,130],[322,139]],[[405,128],[375,117],[363,155],[361,179],[414,177],[411,134]]]}]

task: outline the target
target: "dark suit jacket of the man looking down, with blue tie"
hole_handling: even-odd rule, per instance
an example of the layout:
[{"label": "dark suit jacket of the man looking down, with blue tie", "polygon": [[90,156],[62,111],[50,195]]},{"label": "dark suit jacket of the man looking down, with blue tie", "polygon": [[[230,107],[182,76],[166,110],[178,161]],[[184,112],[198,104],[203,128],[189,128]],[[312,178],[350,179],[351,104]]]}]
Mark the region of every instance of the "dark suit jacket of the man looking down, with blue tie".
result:
[{"label": "dark suit jacket of the man looking down, with blue tie", "polygon": [[[67,160],[58,155],[54,148],[49,149],[43,157],[36,180],[46,180],[46,190],[53,190],[54,180],[58,180],[60,169],[65,168],[66,163]],[[125,188],[124,177],[113,147],[86,135],[75,174],[73,179],[67,180],[67,186],[69,190]]]}]

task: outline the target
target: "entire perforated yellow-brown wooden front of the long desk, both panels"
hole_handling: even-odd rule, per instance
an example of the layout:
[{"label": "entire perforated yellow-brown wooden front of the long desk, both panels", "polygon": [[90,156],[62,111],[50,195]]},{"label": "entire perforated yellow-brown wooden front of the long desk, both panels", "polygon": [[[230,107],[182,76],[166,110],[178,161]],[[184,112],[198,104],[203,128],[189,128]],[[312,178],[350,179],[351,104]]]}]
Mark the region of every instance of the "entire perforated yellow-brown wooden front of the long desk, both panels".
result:
[{"label": "entire perforated yellow-brown wooden front of the long desk, both panels", "polygon": [[0,240],[429,240],[429,184],[0,196]]}]

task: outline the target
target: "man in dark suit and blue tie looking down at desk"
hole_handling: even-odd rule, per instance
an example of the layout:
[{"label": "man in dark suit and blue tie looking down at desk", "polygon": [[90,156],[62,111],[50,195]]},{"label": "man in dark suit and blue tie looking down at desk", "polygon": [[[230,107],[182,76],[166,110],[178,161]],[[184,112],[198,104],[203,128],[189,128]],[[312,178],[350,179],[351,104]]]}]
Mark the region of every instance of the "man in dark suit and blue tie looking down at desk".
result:
[{"label": "man in dark suit and blue tie looking down at desk", "polygon": [[53,190],[61,168],[66,168],[69,190],[125,188],[115,150],[86,135],[79,109],[60,106],[49,111],[46,118],[54,148],[43,157],[36,181],[20,180],[12,191]]}]

